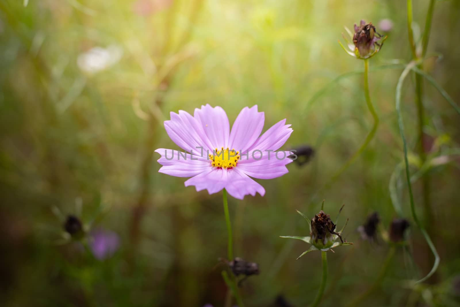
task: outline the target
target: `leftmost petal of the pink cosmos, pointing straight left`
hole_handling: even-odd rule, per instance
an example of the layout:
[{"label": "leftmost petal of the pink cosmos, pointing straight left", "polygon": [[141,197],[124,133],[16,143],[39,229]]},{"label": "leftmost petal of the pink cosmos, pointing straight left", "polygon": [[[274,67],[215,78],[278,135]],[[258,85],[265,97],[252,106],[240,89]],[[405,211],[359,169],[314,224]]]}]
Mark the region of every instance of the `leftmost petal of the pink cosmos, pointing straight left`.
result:
[{"label": "leftmost petal of the pink cosmos, pointing straight left", "polygon": [[176,177],[192,177],[211,168],[211,162],[205,156],[201,156],[201,152],[195,154],[195,151],[193,151],[193,157],[184,152],[165,148],[159,148],[155,152],[161,155],[161,158],[157,161],[163,166],[158,172],[163,174]]}]

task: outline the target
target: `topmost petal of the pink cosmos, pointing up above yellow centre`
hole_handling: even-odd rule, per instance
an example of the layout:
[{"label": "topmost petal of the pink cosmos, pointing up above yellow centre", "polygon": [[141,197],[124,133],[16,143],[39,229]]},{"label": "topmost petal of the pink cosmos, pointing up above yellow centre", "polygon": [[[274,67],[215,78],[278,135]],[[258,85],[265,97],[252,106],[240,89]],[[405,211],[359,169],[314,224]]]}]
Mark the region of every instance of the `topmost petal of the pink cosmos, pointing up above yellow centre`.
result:
[{"label": "topmost petal of the pink cosmos, pointing up above yellow centre", "polygon": [[202,105],[201,109],[195,109],[193,116],[201,124],[210,141],[210,150],[214,148],[226,148],[229,143],[230,124],[229,118],[221,107],[212,107],[209,104]]}]

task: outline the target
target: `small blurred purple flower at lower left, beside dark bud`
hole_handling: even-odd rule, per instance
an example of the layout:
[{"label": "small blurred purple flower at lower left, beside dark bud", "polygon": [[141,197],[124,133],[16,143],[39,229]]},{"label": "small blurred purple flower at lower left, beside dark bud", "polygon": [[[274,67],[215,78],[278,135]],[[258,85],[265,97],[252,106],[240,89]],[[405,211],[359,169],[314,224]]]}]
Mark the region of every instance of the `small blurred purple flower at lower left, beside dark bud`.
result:
[{"label": "small blurred purple flower at lower left, beside dark bud", "polygon": [[90,246],[94,257],[104,260],[118,249],[120,238],[115,232],[99,228],[91,232]]}]

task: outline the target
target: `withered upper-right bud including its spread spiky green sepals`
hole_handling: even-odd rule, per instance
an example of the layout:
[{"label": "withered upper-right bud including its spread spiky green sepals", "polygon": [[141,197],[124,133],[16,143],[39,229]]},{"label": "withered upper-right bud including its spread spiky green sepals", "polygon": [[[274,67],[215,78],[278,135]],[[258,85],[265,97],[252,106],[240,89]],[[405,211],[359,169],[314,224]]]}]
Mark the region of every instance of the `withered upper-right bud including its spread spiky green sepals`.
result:
[{"label": "withered upper-right bud including its spread spiky green sepals", "polygon": [[342,46],[345,52],[355,58],[365,59],[373,57],[380,51],[380,48],[386,39],[386,36],[382,37],[382,35],[375,31],[375,27],[372,23],[366,23],[364,20],[361,20],[359,26],[355,23],[354,34],[352,34],[347,27],[345,27],[345,30],[348,35],[350,35],[353,43],[351,44],[345,35],[343,35],[350,50],[345,49],[342,43],[340,43],[340,46]]}]

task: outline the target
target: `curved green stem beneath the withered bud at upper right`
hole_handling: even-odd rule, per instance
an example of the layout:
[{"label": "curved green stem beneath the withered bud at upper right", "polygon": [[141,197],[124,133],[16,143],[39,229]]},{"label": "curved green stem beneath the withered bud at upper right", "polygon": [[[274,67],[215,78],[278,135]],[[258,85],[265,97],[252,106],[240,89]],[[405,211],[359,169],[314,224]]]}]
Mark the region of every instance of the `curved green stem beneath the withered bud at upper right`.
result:
[{"label": "curved green stem beneath the withered bud at upper right", "polygon": [[331,177],[331,180],[329,180],[329,184],[326,185],[326,187],[331,185],[345,171],[345,169],[347,169],[351,164],[353,164],[356,161],[356,159],[361,155],[364,149],[366,149],[370,141],[374,138],[375,132],[377,131],[377,127],[379,126],[379,116],[377,116],[377,112],[375,112],[374,105],[372,104],[371,97],[369,94],[368,71],[369,71],[369,63],[368,63],[368,59],[366,58],[364,59],[364,96],[366,98],[366,104],[368,106],[369,112],[372,114],[372,117],[374,118],[374,124],[372,126],[371,131],[369,132],[366,139],[364,140],[364,143],[362,143],[359,149]]}]

